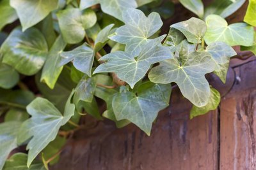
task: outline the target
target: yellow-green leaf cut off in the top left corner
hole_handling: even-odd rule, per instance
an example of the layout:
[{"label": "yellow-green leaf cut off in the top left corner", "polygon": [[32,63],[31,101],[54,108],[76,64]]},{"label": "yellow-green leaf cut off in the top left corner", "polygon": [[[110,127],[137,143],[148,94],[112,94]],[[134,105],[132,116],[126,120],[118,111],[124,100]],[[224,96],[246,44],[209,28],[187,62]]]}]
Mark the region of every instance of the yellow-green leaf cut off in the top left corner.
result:
[{"label": "yellow-green leaf cut off in the top left corner", "polygon": [[0,30],[3,29],[6,24],[10,24],[18,18],[16,11],[10,6],[10,0],[0,1],[0,11]]}]

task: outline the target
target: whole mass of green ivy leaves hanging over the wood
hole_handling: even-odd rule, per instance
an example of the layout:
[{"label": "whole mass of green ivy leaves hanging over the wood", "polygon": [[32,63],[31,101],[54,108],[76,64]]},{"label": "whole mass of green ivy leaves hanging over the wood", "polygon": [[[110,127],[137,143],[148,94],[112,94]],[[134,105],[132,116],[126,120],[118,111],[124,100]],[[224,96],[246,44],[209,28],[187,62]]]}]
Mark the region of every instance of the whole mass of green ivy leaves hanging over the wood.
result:
[{"label": "whole mass of green ivy leaves hanging over the wood", "polygon": [[[201,0],[180,0],[199,18],[159,36],[161,18],[173,13],[170,1],[1,0],[0,31],[18,26],[0,33],[0,169],[47,169],[66,143],[60,135],[74,131],[86,113],[150,135],[169,105],[171,83],[193,103],[191,118],[215,110],[220,93],[205,74],[225,83],[236,55],[231,46],[256,53],[256,2],[249,3],[247,24],[225,20],[244,1],[215,0],[204,8]],[[39,92],[22,83],[28,76]],[[21,145],[28,155],[6,160]]]}]

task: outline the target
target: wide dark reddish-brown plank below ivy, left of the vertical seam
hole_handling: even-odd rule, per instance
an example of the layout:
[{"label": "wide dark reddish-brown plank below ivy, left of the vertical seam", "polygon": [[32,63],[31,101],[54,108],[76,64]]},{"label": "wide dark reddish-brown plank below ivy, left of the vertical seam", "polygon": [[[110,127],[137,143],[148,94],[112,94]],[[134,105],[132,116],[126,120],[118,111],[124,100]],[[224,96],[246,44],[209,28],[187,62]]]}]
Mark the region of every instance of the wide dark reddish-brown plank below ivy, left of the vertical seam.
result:
[{"label": "wide dark reddish-brown plank below ivy, left of the vertical seam", "polygon": [[179,95],[172,96],[170,108],[159,114],[152,135],[129,125],[115,129],[100,124],[92,131],[80,131],[61,153],[52,169],[218,169],[218,114],[189,120],[191,104]]}]

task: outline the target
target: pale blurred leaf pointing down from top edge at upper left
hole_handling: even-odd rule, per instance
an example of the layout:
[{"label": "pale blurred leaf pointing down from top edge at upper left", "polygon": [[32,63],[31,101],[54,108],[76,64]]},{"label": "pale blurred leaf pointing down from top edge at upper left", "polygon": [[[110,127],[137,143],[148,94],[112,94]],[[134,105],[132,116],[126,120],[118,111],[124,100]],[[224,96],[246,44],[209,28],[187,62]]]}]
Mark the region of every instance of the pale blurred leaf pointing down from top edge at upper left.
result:
[{"label": "pale blurred leaf pointing down from top edge at upper left", "polygon": [[58,8],[58,0],[10,0],[10,4],[17,11],[22,31],[37,24]]}]

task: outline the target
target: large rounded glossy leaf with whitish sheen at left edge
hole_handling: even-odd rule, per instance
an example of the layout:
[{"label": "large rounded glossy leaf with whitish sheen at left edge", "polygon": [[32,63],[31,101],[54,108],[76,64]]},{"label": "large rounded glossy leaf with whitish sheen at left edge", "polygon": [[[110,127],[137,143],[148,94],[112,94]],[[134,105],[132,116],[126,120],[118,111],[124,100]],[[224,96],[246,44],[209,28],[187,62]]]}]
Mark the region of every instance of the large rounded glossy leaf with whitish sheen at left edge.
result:
[{"label": "large rounded glossy leaf with whitish sheen at left edge", "polygon": [[22,32],[14,29],[1,46],[3,63],[25,75],[37,73],[44,65],[48,47],[43,34],[31,28]]}]

